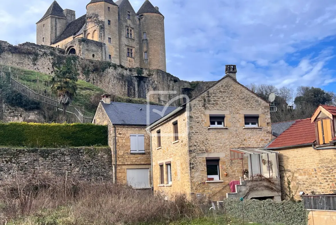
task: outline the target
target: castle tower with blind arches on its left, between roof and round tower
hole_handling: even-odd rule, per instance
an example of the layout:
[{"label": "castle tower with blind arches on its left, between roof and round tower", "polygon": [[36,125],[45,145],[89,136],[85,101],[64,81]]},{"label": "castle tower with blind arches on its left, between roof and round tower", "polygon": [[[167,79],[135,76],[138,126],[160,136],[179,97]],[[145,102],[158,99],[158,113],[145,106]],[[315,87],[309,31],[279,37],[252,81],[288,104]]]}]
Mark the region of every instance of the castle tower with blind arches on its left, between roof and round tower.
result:
[{"label": "castle tower with blind arches on its left, between roof and round tower", "polygon": [[118,5],[113,0],[91,0],[86,6],[87,39],[105,43],[105,60],[119,64]]}]

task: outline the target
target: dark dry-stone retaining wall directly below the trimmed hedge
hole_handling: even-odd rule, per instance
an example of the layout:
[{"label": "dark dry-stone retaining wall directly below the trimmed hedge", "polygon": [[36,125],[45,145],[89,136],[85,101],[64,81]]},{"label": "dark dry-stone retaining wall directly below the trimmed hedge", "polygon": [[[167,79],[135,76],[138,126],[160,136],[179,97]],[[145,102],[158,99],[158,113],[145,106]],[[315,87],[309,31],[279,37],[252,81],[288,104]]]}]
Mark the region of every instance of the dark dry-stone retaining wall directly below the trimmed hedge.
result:
[{"label": "dark dry-stone retaining wall directly below the trimmed hedge", "polygon": [[68,173],[84,180],[111,180],[113,179],[111,159],[109,147],[0,148],[0,180],[8,180],[17,173],[36,172],[60,176]]}]

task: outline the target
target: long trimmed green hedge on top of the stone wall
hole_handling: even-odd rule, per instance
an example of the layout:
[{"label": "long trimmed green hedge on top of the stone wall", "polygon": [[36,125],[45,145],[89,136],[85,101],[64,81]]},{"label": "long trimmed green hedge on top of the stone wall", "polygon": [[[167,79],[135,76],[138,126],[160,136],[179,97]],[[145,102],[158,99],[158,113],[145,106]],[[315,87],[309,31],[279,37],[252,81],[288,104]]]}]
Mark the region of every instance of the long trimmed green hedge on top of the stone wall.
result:
[{"label": "long trimmed green hedge on top of the stone wall", "polygon": [[0,123],[0,146],[107,146],[108,127],[82,123]]}]

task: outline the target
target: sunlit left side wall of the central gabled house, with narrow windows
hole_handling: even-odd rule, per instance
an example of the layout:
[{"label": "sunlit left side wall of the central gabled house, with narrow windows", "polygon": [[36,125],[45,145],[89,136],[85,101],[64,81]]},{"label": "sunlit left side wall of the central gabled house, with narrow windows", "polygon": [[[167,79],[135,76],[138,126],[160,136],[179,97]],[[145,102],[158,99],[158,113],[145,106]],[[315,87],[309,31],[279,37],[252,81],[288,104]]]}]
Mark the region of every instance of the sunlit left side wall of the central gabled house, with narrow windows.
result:
[{"label": "sunlit left side wall of the central gabled house, with narrow windows", "polygon": [[[177,121],[179,140],[173,139],[173,122]],[[161,131],[161,147],[158,147],[157,131]],[[187,113],[167,119],[152,129],[153,187],[154,191],[182,193],[190,196],[190,162],[188,154]],[[171,162],[172,184],[168,184],[166,162]],[[164,167],[164,184],[160,184],[160,164]]]}]

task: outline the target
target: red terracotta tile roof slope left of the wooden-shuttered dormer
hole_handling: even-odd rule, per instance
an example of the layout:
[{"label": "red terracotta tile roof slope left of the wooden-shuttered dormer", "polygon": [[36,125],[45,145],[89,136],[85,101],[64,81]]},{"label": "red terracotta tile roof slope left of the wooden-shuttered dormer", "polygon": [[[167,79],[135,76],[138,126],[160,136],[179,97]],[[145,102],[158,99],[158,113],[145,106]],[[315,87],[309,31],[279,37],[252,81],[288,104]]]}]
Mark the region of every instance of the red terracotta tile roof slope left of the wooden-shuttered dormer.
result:
[{"label": "red terracotta tile roof slope left of the wooden-shuttered dormer", "polygon": [[316,140],[315,124],[310,118],[296,120],[287,130],[274,139],[266,148],[280,148],[310,144]]}]

